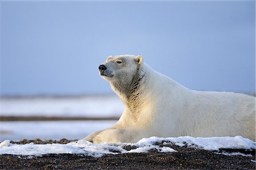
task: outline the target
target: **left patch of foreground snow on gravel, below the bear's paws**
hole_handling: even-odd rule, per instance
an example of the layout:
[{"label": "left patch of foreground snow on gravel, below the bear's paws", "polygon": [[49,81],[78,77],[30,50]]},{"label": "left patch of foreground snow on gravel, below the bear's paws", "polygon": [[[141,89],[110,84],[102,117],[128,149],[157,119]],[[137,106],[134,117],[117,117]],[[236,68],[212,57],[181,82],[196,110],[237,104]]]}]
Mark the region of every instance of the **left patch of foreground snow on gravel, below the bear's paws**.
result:
[{"label": "left patch of foreground snow on gravel, below the bear's paws", "polygon": [[[4,141],[2,143],[8,143]],[[2,145],[0,148],[0,154],[12,154],[12,155],[30,155],[30,156],[42,156],[45,154],[82,154],[86,156],[100,157],[106,154],[118,154],[128,152],[147,152],[153,148],[161,150],[159,146],[153,146],[146,144],[146,146],[137,148],[135,150],[127,151],[122,148],[125,144],[108,145],[108,144],[93,144],[88,141],[80,140],[77,142],[71,142],[68,144],[46,144],[46,145],[34,145],[29,143],[25,145],[17,145],[9,143],[8,146]],[[134,144],[136,146],[136,144]],[[166,150],[164,150],[166,151]]]}]

